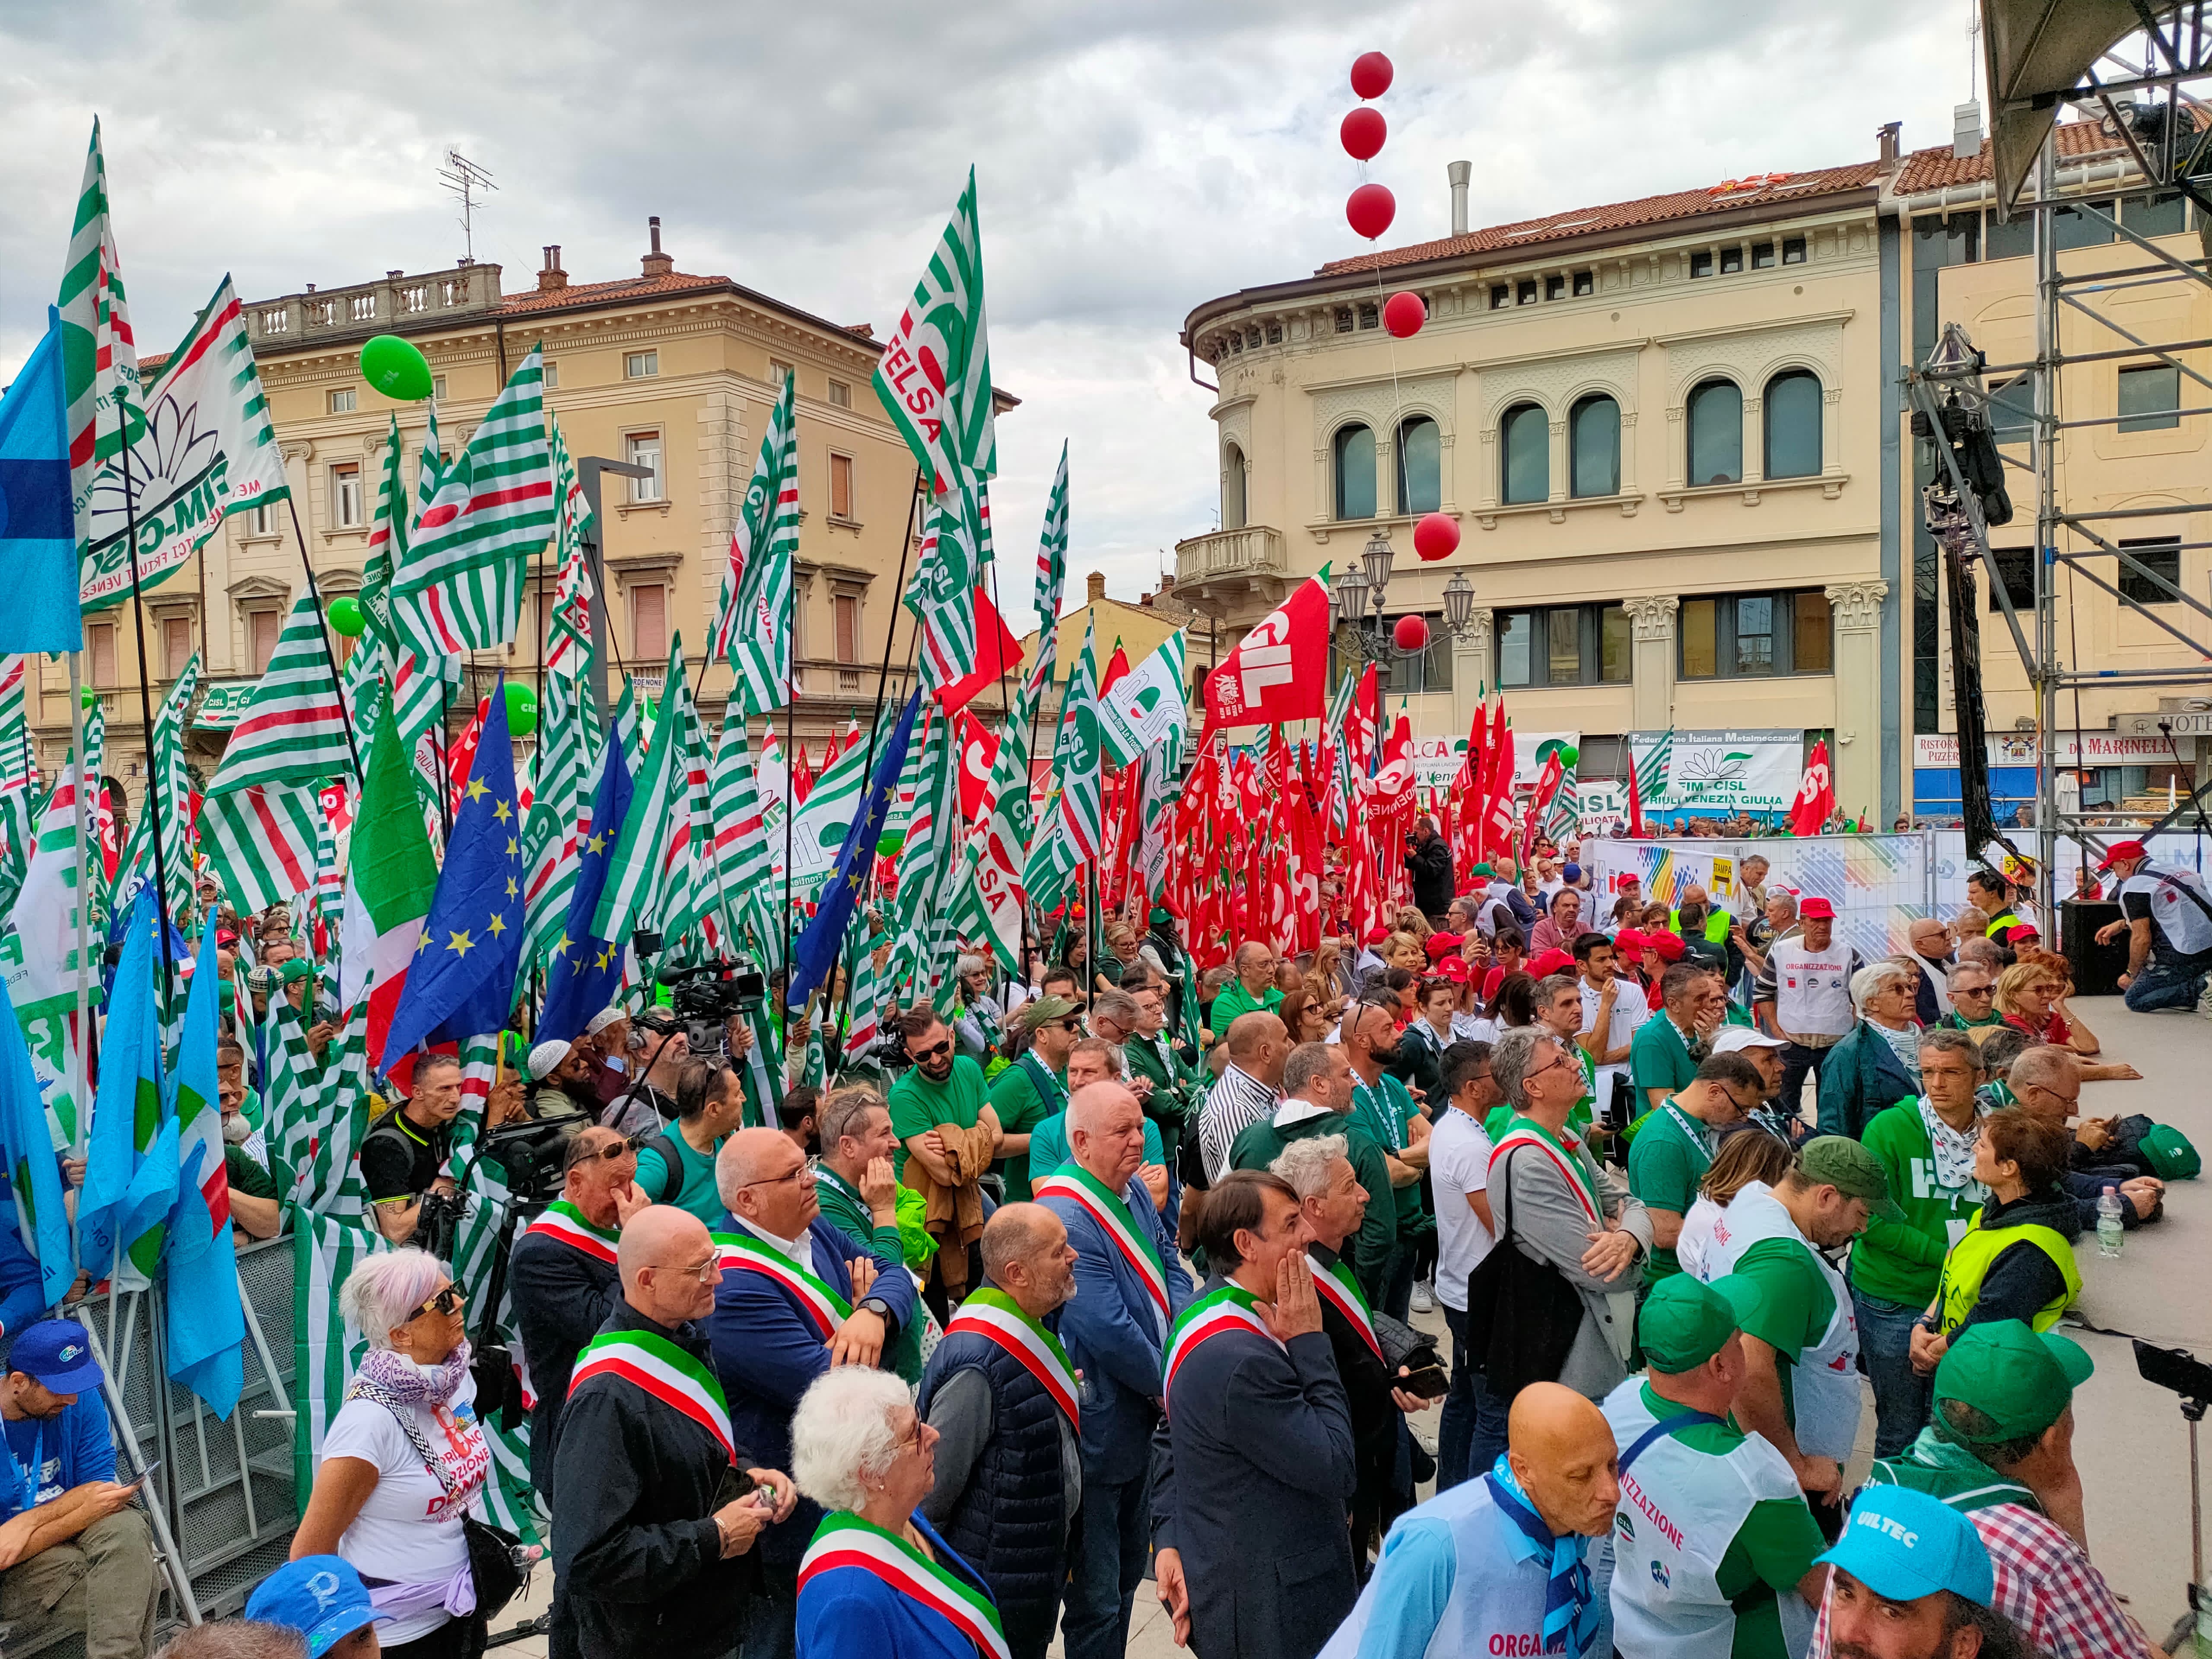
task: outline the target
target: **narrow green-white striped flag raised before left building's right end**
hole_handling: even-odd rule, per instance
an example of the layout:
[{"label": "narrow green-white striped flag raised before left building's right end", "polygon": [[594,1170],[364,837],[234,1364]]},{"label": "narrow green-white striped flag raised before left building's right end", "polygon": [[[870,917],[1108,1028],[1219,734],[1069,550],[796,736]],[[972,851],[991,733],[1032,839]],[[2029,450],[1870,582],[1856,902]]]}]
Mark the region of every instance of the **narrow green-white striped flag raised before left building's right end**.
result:
[{"label": "narrow green-white striped flag raised before left building's right end", "polygon": [[794,385],[796,376],[785,374],[752,462],[708,637],[708,661],[728,659],[737,675],[730,706],[741,714],[768,714],[792,699],[792,560],[799,555]]}]

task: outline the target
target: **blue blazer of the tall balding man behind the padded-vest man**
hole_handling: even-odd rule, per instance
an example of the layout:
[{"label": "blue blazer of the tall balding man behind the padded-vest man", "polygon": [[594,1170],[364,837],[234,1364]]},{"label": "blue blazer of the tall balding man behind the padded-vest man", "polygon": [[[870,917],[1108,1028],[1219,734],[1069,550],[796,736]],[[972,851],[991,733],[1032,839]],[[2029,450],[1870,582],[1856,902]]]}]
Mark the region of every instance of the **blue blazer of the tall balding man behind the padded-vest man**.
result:
[{"label": "blue blazer of the tall balding man behind the padded-vest man", "polygon": [[[1166,1347],[1157,1303],[1119,1245],[1075,1199],[1040,1199],[1068,1228],[1075,1245],[1075,1296],[1060,1310],[1060,1340],[1084,1374],[1084,1482],[1106,1486],[1144,1475],[1152,1422],[1159,1418],[1159,1363]],[[1144,1181],[1130,1177],[1121,1203],[1146,1228],[1168,1270],[1168,1323],[1190,1303],[1190,1274],[1152,1208]]]}]

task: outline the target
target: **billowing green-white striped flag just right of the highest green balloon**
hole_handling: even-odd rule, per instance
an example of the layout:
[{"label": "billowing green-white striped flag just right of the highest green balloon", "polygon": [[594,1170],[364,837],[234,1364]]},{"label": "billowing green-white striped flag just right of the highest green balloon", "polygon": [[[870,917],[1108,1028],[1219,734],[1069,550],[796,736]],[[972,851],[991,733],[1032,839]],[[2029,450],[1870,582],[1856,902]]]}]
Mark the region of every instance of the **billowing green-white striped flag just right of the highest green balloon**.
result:
[{"label": "billowing green-white striped flag just right of the highest green balloon", "polygon": [[531,347],[469,447],[440,469],[436,495],[394,564],[400,639],[447,655],[504,646],[522,622],[529,562],[551,533],[544,352]]}]

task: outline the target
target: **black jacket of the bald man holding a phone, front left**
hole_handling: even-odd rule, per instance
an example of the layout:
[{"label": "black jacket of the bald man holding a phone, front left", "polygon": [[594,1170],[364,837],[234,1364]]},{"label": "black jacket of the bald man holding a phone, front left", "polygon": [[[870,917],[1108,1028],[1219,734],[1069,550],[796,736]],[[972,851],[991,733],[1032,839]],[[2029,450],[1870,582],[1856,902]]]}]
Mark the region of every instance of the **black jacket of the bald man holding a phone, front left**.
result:
[{"label": "black jacket of the bald man holding a phone, front left", "polygon": [[[619,1303],[602,1329],[653,1332],[714,1367],[697,1325],[670,1329]],[[737,1462],[752,1460],[739,1449]],[[599,1378],[568,1400],[551,1506],[553,1575],[575,1652],[668,1659],[737,1646],[759,1551],[721,1559],[712,1515],[737,1495],[730,1475],[714,1436],[633,1383]]]}]

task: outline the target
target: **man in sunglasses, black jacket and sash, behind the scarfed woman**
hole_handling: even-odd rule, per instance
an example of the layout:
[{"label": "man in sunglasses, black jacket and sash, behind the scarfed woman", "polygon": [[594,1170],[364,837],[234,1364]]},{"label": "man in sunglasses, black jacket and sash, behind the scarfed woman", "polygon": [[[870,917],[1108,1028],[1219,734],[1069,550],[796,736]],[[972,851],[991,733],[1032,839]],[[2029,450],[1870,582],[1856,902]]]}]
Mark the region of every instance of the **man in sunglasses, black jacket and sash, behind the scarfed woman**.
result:
[{"label": "man in sunglasses, black jacket and sash, behind the scarfed woman", "polygon": [[515,1332],[529,1356],[538,1402],[531,1407],[531,1484],[553,1484],[553,1442],[568,1402],[568,1371],[622,1301],[615,1239],[646,1208],[630,1179],[637,1155],[611,1128],[580,1130],[564,1157],[560,1197],[515,1239],[507,1287]]}]

